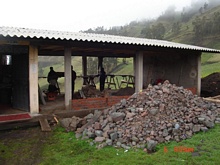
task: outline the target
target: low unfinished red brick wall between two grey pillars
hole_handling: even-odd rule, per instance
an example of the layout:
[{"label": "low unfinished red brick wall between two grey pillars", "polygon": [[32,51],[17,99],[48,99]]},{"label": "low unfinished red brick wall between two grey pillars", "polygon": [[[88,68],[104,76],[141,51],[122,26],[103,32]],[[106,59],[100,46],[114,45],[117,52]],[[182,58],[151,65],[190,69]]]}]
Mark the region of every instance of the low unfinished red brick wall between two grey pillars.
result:
[{"label": "low unfinished red brick wall between two grey pillars", "polygon": [[80,109],[102,109],[111,107],[114,104],[117,104],[122,99],[127,99],[130,96],[110,96],[107,98],[96,97],[96,98],[87,98],[87,99],[76,99],[72,100],[73,110]]}]

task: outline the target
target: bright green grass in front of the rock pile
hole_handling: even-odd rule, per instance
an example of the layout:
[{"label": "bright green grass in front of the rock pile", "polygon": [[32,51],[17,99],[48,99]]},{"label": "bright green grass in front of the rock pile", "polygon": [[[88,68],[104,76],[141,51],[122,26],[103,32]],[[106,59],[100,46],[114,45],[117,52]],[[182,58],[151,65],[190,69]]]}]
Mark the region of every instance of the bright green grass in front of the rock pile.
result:
[{"label": "bright green grass in front of the rock pile", "polygon": [[[123,149],[105,147],[96,149],[89,145],[89,140],[77,140],[74,133],[65,133],[58,127],[49,143],[44,147],[41,165],[49,164],[218,164],[220,162],[220,126],[208,132],[200,132],[191,139],[167,144],[159,144],[157,152],[147,154],[141,149]],[[199,156],[190,152],[175,152],[175,147],[193,148]],[[164,152],[164,149],[168,152]]]}]

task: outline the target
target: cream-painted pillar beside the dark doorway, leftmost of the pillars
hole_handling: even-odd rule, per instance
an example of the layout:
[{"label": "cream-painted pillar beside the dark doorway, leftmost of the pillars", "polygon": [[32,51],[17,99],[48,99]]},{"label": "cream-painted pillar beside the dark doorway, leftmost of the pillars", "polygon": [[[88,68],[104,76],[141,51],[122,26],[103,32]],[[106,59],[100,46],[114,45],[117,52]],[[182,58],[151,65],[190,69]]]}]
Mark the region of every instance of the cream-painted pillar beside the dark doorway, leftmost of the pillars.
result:
[{"label": "cream-painted pillar beside the dark doorway, leftmost of the pillars", "polygon": [[29,46],[29,99],[30,113],[39,113],[39,96],[38,96],[38,48]]}]

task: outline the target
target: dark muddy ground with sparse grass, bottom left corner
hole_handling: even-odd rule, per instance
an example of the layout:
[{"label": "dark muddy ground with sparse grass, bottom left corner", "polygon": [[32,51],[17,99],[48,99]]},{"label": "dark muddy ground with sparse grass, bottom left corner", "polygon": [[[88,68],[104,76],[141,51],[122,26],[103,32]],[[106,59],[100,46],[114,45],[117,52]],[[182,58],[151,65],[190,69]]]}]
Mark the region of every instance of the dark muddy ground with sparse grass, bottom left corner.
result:
[{"label": "dark muddy ground with sparse grass, bottom left corner", "polygon": [[0,164],[39,164],[42,149],[52,132],[42,132],[40,127],[0,131]]}]

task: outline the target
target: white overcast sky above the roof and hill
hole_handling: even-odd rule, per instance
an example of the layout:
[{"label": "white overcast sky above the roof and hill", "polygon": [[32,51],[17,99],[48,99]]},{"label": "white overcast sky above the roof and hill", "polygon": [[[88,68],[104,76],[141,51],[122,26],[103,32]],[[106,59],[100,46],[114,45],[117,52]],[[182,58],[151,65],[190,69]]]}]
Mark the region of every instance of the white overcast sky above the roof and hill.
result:
[{"label": "white overcast sky above the roof and hill", "polygon": [[0,26],[78,32],[155,18],[170,5],[191,0],[2,0]]}]

